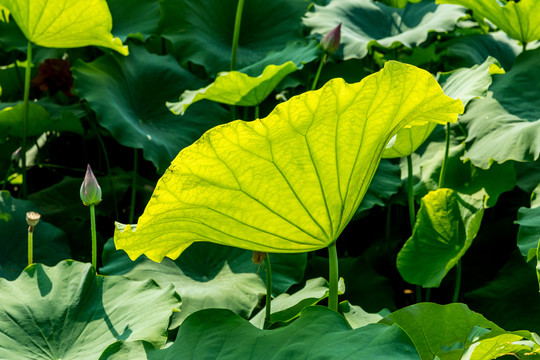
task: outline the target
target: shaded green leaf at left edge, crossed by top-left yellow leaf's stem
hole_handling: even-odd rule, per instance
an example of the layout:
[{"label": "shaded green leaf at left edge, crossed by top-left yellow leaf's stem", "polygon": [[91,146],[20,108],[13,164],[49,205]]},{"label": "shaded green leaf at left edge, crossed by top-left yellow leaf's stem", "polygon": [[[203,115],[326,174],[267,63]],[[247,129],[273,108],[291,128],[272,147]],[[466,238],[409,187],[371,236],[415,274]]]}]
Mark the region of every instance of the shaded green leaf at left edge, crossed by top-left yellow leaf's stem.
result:
[{"label": "shaded green leaf at left edge, crossed by top-left yellow leaf's stem", "polygon": [[[22,137],[24,105],[20,102],[1,103],[0,108],[0,133],[3,136]],[[62,112],[51,117],[47,110],[34,102],[29,103],[28,114],[27,136],[41,135],[47,131],[69,131],[77,134],[84,131],[78,118]]]}]

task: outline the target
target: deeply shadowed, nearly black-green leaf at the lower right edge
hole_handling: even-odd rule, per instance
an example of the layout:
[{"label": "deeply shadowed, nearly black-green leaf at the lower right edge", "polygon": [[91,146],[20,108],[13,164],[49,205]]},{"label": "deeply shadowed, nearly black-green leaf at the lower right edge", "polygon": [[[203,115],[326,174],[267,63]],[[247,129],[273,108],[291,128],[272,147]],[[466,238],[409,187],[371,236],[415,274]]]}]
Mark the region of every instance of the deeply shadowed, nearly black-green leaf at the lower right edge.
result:
[{"label": "deeply shadowed, nearly black-green leaf at the lower right edge", "polygon": [[526,263],[516,249],[492,281],[465,293],[463,299],[471,309],[506,330],[528,329],[538,333],[540,293],[535,266],[534,262]]}]

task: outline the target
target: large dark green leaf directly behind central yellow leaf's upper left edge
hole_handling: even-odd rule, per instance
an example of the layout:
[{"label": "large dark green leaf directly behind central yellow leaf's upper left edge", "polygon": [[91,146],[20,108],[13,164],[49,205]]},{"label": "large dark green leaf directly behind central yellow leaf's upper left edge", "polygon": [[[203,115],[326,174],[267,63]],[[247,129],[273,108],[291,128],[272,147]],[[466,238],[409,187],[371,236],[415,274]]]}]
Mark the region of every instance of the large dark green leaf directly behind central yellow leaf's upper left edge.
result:
[{"label": "large dark green leaf directly behind central yellow leaf's upper left edge", "polygon": [[120,144],[142,148],[144,157],[163,172],[183,147],[230,118],[211,103],[193,105],[187,116],[172,114],[165,102],[196,88],[198,80],[172,56],[150,54],[136,45],[130,45],[130,52],[127,57],[77,61],[74,86]]}]

